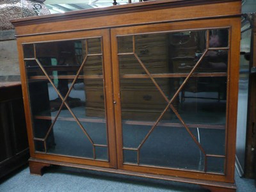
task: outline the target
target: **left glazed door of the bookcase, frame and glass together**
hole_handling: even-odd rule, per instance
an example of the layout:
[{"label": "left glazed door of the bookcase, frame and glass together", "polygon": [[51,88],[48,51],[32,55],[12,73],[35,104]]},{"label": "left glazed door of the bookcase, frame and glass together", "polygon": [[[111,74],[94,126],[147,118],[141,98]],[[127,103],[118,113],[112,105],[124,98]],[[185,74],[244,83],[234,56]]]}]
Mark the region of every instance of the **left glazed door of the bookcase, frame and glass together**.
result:
[{"label": "left glazed door of the bookcase, frame and glass together", "polygon": [[35,36],[21,46],[32,157],[115,166],[109,31]]}]

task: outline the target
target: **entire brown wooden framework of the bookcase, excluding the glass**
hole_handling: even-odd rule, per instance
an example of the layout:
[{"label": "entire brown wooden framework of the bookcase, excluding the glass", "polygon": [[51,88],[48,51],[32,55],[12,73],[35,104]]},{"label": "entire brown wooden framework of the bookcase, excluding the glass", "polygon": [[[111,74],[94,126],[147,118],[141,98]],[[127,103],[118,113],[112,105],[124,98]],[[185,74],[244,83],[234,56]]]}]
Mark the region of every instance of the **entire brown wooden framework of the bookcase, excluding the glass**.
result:
[{"label": "entire brown wooden framework of the bookcase, excluding the glass", "polygon": [[[207,10],[207,11],[205,11]],[[38,175],[42,174],[41,170],[44,166],[50,164],[58,164],[63,166],[74,166],[79,168],[87,168],[90,170],[99,170],[103,172],[122,173],[126,175],[136,175],[140,177],[148,177],[155,179],[176,180],[179,182],[189,182],[193,184],[200,184],[212,191],[236,191],[234,184],[234,163],[235,163],[235,141],[236,141],[236,113],[237,113],[237,92],[238,92],[238,75],[239,75],[239,39],[240,39],[240,17],[241,13],[241,1],[185,1],[185,0],[172,0],[172,1],[148,1],[141,4],[129,4],[127,6],[116,6],[111,8],[100,8],[96,10],[83,10],[78,12],[64,13],[60,15],[45,15],[42,17],[35,17],[30,19],[18,19],[13,20],[13,24],[16,27],[17,44],[19,50],[20,61],[20,74],[22,76],[22,91],[24,94],[24,104],[26,111],[26,120],[28,127],[29,146],[31,152],[30,167],[31,173]],[[118,19],[116,19],[118,17]],[[180,31],[197,31],[207,29],[227,29],[229,31],[229,47],[227,49],[228,54],[228,71],[227,72],[164,72],[161,74],[157,72],[151,74],[147,67],[144,66],[140,58],[135,54],[134,49],[128,53],[118,52],[119,45],[117,38],[129,35],[148,35],[151,33],[175,33]],[[209,30],[208,30],[209,31]],[[209,36],[209,32],[207,33]],[[35,141],[40,141],[40,138],[35,138],[33,135],[33,118],[40,120],[52,120],[51,116],[37,115],[33,116],[29,104],[29,81],[38,81],[51,78],[51,76],[31,76],[30,79],[26,77],[26,67],[23,54],[23,46],[27,44],[38,44],[40,42],[52,42],[63,40],[81,40],[99,38],[102,44],[102,69],[97,66],[95,72],[97,74],[88,75],[68,75],[60,76],[60,79],[77,78],[84,79],[84,83],[93,81],[96,86],[99,86],[98,81],[101,81],[100,86],[104,87],[104,90],[98,92],[95,90],[88,92],[88,99],[94,102],[95,106],[102,106],[100,115],[106,116],[105,120],[93,120],[93,118],[82,118],[82,122],[106,122],[107,135],[108,135],[108,161],[101,161],[97,159],[64,156],[56,154],[48,154],[47,152],[38,152],[35,150]],[[134,38],[134,37],[133,37]],[[163,40],[165,42],[165,40]],[[133,42],[133,47],[135,43]],[[193,45],[189,45],[193,46]],[[141,54],[145,54],[145,51],[163,53],[163,56],[168,58],[168,49],[155,49],[150,47],[148,50],[142,49],[139,46]],[[208,48],[208,47],[207,47]],[[215,48],[211,48],[212,50]],[[217,48],[216,48],[217,49]],[[193,56],[194,49],[188,53],[189,56]],[[179,50],[178,50],[179,51]],[[100,53],[101,54],[101,53]],[[139,61],[139,64],[144,70],[140,70],[138,74],[132,74],[131,70],[127,70],[126,65],[131,63],[129,59],[125,58],[124,73],[120,75],[119,56],[130,56],[134,54]],[[99,56],[99,54],[97,54]],[[153,60],[153,54],[150,54],[149,60]],[[28,59],[35,60],[35,59]],[[38,61],[36,59],[36,61]],[[94,62],[94,61],[93,61]],[[93,62],[89,63],[93,66]],[[157,63],[157,62],[156,62]],[[154,63],[154,65],[157,65]],[[99,63],[97,63],[99,65]],[[101,64],[100,64],[101,65]],[[164,70],[168,70],[166,63],[161,63]],[[91,66],[91,67],[92,67]],[[195,69],[195,68],[194,68]],[[54,70],[54,68],[52,68]],[[61,70],[65,70],[62,68]],[[100,73],[100,74],[99,74]],[[101,74],[102,73],[102,74]],[[130,74],[131,73],[131,74]],[[122,92],[122,82],[120,77],[127,81],[125,86],[129,86],[132,82],[132,78],[145,79],[145,81],[154,80],[154,78],[181,78],[181,77],[227,77],[227,116],[226,125],[197,125],[188,124],[191,127],[202,127],[205,129],[219,129],[225,130],[225,155],[218,154],[206,154],[207,157],[218,157],[225,159],[225,172],[213,173],[196,170],[185,170],[179,168],[166,168],[159,166],[138,165],[124,163],[124,146],[123,146],[123,132],[122,124],[127,125],[154,125],[150,116],[146,122],[139,120],[127,120],[122,121],[122,112],[124,112],[125,104],[121,104],[120,93]],[[151,79],[151,80],[150,80]],[[144,81],[144,80],[143,80]],[[162,82],[163,83],[163,82]],[[156,87],[160,87],[155,83]],[[168,92],[167,84],[163,85],[163,90]],[[184,86],[184,84],[182,84]],[[152,90],[152,87],[147,83],[143,84],[143,89],[137,84],[136,88],[140,88],[137,97],[138,102],[136,106],[139,108],[147,109],[148,99],[154,98],[156,90]],[[182,87],[181,87],[182,88]],[[179,91],[181,90],[179,89]],[[127,91],[128,90],[128,91]],[[132,106],[129,98],[133,97],[129,89],[124,91],[124,100],[127,101],[126,107]],[[142,91],[141,91],[142,90]],[[151,90],[151,91],[148,91]],[[164,95],[162,91],[162,96]],[[145,94],[143,93],[145,92]],[[148,92],[148,94],[146,94]],[[179,93],[175,93],[177,96]],[[147,96],[147,97],[146,97]],[[161,95],[160,95],[161,96]],[[96,98],[97,97],[97,98]],[[159,97],[156,97],[159,100]],[[174,98],[174,97],[173,97]],[[100,99],[100,101],[99,101]],[[136,98],[134,98],[136,99]],[[163,98],[162,98],[163,99]],[[167,99],[167,97],[165,98]],[[167,99],[168,100],[168,99]],[[174,100],[174,99],[172,99]],[[157,101],[156,101],[157,102]],[[91,107],[90,105],[86,107]],[[68,107],[67,107],[68,108]],[[103,109],[105,108],[105,110]],[[123,111],[122,111],[123,110]],[[162,110],[163,111],[163,110]],[[165,109],[166,111],[166,109]],[[133,113],[132,111],[128,111]],[[127,113],[128,113],[127,112]],[[93,113],[93,112],[92,112]],[[95,112],[96,113],[96,112]],[[99,111],[97,112],[99,113]],[[73,115],[74,116],[74,115]],[[78,119],[75,118],[78,122]],[[75,121],[73,119],[73,121]],[[62,119],[61,119],[62,120]],[[72,118],[67,118],[67,121],[72,121]],[[183,122],[180,118],[180,122]],[[161,124],[161,123],[160,123]],[[182,124],[161,124],[163,126],[179,127]],[[183,124],[184,126],[184,124]],[[107,145],[95,145],[100,147],[106,147]],[[129,150],[134,150],[129,148]]]}]

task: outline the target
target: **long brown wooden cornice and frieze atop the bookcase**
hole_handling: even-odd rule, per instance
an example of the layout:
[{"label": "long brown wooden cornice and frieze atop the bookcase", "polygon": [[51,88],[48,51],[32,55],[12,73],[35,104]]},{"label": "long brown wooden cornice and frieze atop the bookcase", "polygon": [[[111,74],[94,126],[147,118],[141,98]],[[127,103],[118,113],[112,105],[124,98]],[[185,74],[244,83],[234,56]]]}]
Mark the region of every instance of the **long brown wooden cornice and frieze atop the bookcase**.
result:
[{"label": "long brown wooden cornice and frieze atop the bookcase", "polygon": [[[189,1],[184,1],[188,3]],[[208,2],[208,1],[207,1]],[[176,22],[181,20],[195,20],[195,19],[209,19],[216,17],[228,17],[230,15],[241,14],[241,1],[209,1],[210,4],[204,4],[204,9],[202,9],[202,4],[193,4],[190,1],[189,5],[182,4],[182,6],[172,7],[170,4],[172,2],[165,4],[164,8],[159,7],[161,4],[154,2],[156,6],[147,10],[147,2],[145,6],[139,6],[140,10],[136,10],[136,6],[131,7],[129,11],[128,8],[123,8],[122,13],[118,12],[118,9],[111,8],[113,12],[110,12],[109,8],[104,8],[102,10],[88,10],[83,13],[75,13],[74,15],[56,15],[56,17],[44,16],[37,17],[37,19],[31,18],[31,20],[17,20],[17,22],[12,22],[15,25],[17,36],[29,36],[29,35],[40,35],[40,34],[52,34],[52,33],[64,33],[68,31],[84,31],[90,29],[102,29],[102,28],[114,28],[122,26],[134,26],[141,24],[154,24],[161,22]],[[212,4],[214,2],[214,4]],[[183,2],[182,2],[183,3]],[[205,3],[205,1],[204,1]],[[181,5],[181,4],[180,4]],[[132,6],[132,5],[131,5]],[[125,7],[125,6],[124,6]],[[189,8],[188,8],[189,7]],[[158,10],[161,9],[161,12]],[[207,10],[207,12],[205,12]],[[87,13],[89,12],[89,13]],[[104,13],[101,15],[100,13]],[[93,13],[93,14],[92,14]],[[180,14],[182,13],[182,14]],[[116,19],[118,15],[118,19]],[[60,17],[62,17],[61,20]],[[138,19],[140,18],[140,19]],[[74,22],[76,19],[76,22]],[[40,22],[41,21],[41,22]],[[54,25],[51,24],[54,22]],[[38,25],[40,23],[40,25]],[[22,26],[26,25],[26,28]]]}]

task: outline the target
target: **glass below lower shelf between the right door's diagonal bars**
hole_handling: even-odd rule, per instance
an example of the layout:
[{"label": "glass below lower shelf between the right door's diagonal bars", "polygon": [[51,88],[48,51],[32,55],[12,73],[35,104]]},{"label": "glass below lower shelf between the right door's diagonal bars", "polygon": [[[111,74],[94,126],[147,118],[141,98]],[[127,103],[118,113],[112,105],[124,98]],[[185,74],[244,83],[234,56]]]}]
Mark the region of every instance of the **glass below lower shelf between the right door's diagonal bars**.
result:
[{"label": "glass below lower shelf between the right door's diagonal bars", "polygon": [[157,126],[141,147],[140,163],[203,171],[204,154],[186,129]]}]

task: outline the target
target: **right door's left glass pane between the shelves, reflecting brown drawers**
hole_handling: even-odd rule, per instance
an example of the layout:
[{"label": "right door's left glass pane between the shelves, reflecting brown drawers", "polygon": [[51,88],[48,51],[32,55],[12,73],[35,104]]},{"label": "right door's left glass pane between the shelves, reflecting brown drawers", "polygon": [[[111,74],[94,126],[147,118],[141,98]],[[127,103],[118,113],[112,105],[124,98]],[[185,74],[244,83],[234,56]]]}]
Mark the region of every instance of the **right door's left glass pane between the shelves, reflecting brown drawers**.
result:
[{"label": "right door's left glass pane between the shelves, reflecting brown drawers", "polygon": [[[168,84],[164,79],[163,83]],[[167,105],[150,79],[122,79],[121,99],[123,120],[157,120]],[[164,116],[168,118],[170,114]]]}]

